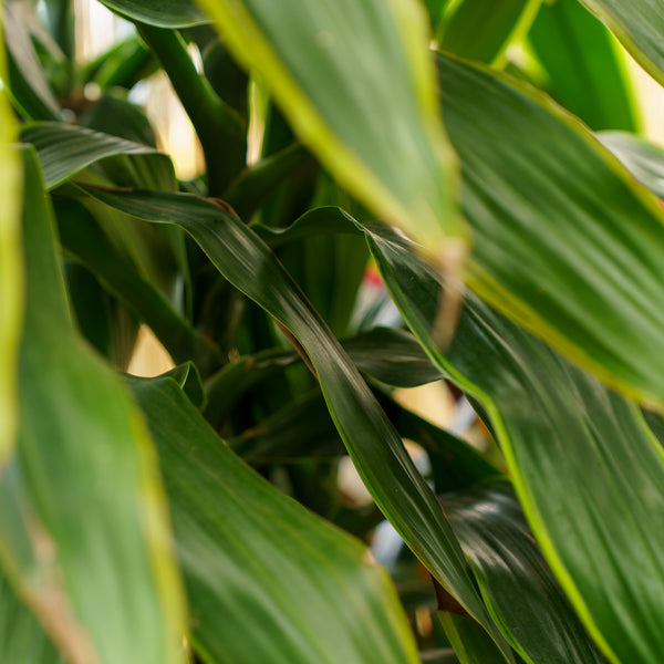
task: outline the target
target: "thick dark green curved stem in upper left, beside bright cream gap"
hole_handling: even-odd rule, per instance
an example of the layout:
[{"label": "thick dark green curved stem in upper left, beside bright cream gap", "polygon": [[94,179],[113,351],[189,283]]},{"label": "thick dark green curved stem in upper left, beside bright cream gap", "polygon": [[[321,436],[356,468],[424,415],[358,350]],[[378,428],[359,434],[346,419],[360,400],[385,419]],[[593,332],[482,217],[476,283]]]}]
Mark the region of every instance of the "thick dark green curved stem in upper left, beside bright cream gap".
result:
[{"label": "thick dark green curved stem in upper left, beside bright cream gap", "polygon": [[144,23],[136,23],[136,28],[162,63],[200,139],[208,194],[220,196],[245,167],[246,124],[196,71],[179,32]]}]

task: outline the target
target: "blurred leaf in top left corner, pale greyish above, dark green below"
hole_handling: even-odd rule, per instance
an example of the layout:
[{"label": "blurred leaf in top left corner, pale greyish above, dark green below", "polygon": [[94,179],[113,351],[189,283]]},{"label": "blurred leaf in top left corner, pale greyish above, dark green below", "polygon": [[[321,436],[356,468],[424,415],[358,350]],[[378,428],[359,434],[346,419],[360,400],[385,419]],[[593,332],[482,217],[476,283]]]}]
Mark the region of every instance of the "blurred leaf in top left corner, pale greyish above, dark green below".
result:
[{"label": "blurred leaf in top left corner, pale greyish above, dark green below", "polygon": [[60,120],[60,106],[46,83],[28,31],[30,21],[24,14],[32,12],[31,3],[12,0],[4,2],[3,9],[9,80],[14,103],[27,120]]}]

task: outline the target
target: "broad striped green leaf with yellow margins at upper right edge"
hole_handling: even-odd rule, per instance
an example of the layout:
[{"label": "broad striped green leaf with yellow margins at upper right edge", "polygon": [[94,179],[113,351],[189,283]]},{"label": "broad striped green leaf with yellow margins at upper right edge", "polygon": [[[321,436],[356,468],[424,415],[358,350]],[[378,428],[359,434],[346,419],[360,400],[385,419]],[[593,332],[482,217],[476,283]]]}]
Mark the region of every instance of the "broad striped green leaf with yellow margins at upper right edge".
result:
[{"label": "broad striped green leaf with yellow margins at upper right edge", "polygon": [[548,97],[480,66],[438,63],[476,236],[468,284],[606,384],[664,404],[657,201]]}]

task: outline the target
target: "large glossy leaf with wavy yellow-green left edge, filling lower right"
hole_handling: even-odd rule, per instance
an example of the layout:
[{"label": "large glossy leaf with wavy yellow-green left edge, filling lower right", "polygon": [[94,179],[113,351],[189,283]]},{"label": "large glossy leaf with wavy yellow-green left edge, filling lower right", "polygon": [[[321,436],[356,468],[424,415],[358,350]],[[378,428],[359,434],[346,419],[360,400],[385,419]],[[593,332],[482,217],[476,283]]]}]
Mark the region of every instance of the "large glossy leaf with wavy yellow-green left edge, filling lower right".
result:
[{"label": "large glossy leaf with wavy yellow-green left edge, filling lower right", "polygon": [[367,230],[395,302],[429,355],[490,417],[532,532],[611,662],[664,652],[664,452],[637,407],[474,295],[446,355],[430,331],[439,277]]}]

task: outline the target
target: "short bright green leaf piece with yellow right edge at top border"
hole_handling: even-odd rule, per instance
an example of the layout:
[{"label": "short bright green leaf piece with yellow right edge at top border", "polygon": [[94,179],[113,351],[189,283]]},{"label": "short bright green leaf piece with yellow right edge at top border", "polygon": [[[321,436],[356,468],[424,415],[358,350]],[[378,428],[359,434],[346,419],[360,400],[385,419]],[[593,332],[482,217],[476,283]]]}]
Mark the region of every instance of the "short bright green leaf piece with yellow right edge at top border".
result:
[{"label": "short bright green leaf piece with yellow right edge at top border", "polygon": [[444,22],[443,51],[491,63],[511,39],[525,33],[541,0],[464,0]]}]

